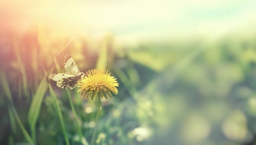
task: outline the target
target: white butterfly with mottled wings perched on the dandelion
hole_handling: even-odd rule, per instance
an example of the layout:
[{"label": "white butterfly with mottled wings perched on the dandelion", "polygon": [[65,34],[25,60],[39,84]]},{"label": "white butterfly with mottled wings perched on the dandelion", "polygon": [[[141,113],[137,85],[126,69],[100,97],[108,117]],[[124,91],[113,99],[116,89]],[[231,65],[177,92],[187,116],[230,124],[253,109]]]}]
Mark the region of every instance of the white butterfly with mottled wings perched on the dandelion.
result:
[{"label": "white butterfly with mottled wings perched on the dandelion", "polygon": [[52,73],[49,78],[57,81],[58,87],[73,89],[81,78],[84,78],[84,73],[80,72],[75,60],[70,55],[64,57],[64,67],[66,73]]}]

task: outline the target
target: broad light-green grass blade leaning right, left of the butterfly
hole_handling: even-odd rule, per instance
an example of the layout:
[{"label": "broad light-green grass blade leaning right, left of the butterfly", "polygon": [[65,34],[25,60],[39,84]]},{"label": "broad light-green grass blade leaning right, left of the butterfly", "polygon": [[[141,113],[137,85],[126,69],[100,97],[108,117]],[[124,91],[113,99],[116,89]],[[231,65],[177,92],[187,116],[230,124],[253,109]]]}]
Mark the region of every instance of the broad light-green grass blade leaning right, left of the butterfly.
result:
[{"label": "broad light-green grass blade leaning right, left of the butterfly", "polygon": [[34,98],[32,100],[32,103],[30,105],[30,108],[29,108],[28,121],[29,121],[30,129],[32,131],[33,141],[35,141],[35,123],[38,120],[38,116],[39,116],[39,113],[40,113],[40,109],[41,109],[42,101],[43,101],[43,98],[44,98],[44,94],[46,93],[47,87],[48,87],[46,77],[47,76],[45,76],[42,79],[41,83],[39,84],[39,86],[38,86],[38,88],[35,92]]}]

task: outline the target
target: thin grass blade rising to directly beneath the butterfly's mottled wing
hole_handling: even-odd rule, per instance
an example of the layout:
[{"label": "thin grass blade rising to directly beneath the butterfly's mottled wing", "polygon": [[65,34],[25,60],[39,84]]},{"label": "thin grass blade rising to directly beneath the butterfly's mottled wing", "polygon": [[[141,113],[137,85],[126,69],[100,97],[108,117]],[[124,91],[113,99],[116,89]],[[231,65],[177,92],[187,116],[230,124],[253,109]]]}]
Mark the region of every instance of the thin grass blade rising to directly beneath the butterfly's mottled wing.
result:
[{"label": "thin grass blade rising to directly beneath the butterfly's mottled wing", "polygon": [[[71,109],[73,111],[73,114],[75,116],[75,120],[76,120],[76,128],[77,128],[77,131],[78,131],[78,134],[79,134],[79,139],[80,139],[80,142],[82,143],[82,139],[83,139],[83,134],[82,134],[82,131],[81,131],[81,126],[79,125],[79,121],[78,121],[78,117],[76,115],[76,110],[75,110],[75,107],[73,105],[73,102],[72,102],[72,99],[71,99],[71,95],[70,95],[70,92],[69,90],[65,89],[65,91],[67,92],[67,97],[68,97],[68,100],[70,102],[70,106],[71,106]],[[85,139],[85,138],[84,138]],[[85,139],[85,144],[84,145],[88,145],[86,139]]]}]

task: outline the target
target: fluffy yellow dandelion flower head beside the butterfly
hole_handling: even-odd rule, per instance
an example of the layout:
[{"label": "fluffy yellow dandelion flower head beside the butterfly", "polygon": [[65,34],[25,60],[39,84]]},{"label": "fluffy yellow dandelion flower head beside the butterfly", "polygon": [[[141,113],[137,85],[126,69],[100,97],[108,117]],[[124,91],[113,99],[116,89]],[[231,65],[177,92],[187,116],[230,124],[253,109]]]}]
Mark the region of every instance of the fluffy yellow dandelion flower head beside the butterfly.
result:
[{"label": "fluffy yellow dandelion flower head beside the butterfly", "polygon": [[90,96],[92,100],[96,94],[101,98],[104,96],[108,99],[107,95],[112,98],[111,92],[115,95],[118,93],[118,90],[116,89],[118,83],[116,78],[110,74],[111,73],[108,73],[108,70],[106,71],[104,69],[93,69],[87,71],[84,78],[82,78],[78,84],[81,87],[78,92],[83,95],[84,98],[88,98],[88,96]]}]

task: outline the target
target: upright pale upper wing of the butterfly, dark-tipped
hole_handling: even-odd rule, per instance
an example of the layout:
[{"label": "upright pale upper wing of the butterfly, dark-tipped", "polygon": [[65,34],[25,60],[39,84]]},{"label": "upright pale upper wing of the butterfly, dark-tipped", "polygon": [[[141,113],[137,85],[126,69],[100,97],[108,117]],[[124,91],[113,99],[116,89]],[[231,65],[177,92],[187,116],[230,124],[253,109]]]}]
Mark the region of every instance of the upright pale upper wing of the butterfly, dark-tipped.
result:
[{"label": "upright pale upper wing of the butterfly, dark-tipped", "polygon": [[80,73],[80,70],[75,60],[68,54],[64,57],[64,67],[65,67],[66,73],[69,73],[72,75],[76,75],[77,73]]}]

